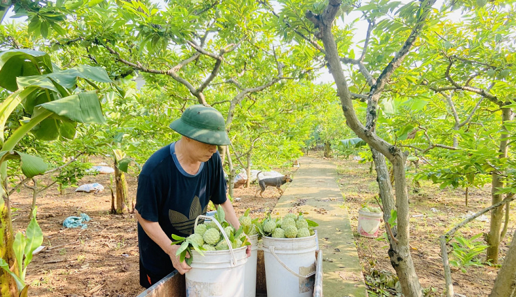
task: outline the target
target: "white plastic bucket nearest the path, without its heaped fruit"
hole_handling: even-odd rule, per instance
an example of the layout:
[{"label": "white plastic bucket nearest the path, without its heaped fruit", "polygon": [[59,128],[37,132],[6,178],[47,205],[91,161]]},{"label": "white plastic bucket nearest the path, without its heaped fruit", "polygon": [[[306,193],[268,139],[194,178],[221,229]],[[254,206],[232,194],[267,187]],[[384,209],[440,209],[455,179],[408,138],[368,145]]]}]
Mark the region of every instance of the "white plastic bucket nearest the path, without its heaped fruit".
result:
[{"label": "white plastic bucket nearest the path, without its heaped fruit", "polygon": [[267,297],[311,297],[316,271],[317,235],[262,237]]}]

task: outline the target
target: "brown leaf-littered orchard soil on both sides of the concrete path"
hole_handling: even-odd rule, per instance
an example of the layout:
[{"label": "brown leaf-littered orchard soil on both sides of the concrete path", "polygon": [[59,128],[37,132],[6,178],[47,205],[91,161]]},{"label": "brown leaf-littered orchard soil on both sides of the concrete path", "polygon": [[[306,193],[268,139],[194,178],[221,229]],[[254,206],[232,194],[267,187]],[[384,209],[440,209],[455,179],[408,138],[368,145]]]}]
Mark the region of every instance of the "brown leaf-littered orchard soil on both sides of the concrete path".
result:
[{"label": "brown leaf-littered orchard soil on both sides of the concrete path", "polygon": [[[311,153],[310,156],[316,156]],[[316,156],[317,157],[317,156]],[[320,156],[319,156],[320,157]],[[99,162],[101,160],[98,160]],[[363,267],[366,284],[376,287],[372,292],[379,296],[391,296],[394,289],[379,289],[393,285],[393,268],[387,255],[388,243],[378,239],[360,237],[356,232],[358,210],[364,204],[374,205],[378,186],[376,174],[369,173],[368,164],[352,159],[332,160],[337,163],[338,184],[344,197],[342,207],[350,213],[356,246]],[[291,173],[295,179],[295,169]],[[413,172],[413,167],[408,168]],[[110,177],[107,174],[88,176],[80,181],[101,183],[105,190],[98,193],[79,193],[67,189],[60,195],[53,187],[37,198],[37,219],[44,233],[45,249],[35,255],[27,269],[27,283],[31,284],[29,296],[137,296],[144,291],[139,286],[138,246],[134,215],[110,215]],[[129,195],[134,197],[136,177],[128,176]],[[237,215],[247,208],[252,217],[266,217],[279,198],[275,188],[268,187],[264,198],[255,197],[256,184],[251,188],[234,189],[233,201]],[[286,185],[288,187],[288,184]],[[284,186],[285,188],[285,186]],[[431,183],[413,184],[408,188],[411,197],[411,251],[423,287],[429,296],[442,296],[444,277],[440,260],[438,237],[451,226],[458,224],[468,212],[476,213],[490,205],[490,187],[470,189],[469,206],[465,206],[464,190],[440,190]],[[23,231],[28,224],[28,211],[32,192],[27,188],[11,196],[14,226]],[[515,207],[513,206],[512,211]],[[64,228],[62,222],[69,216],[86,213],[92,218],[87,228]],[[489,216],[488,216],[489,217]],[[501,244],[500,261],[508,250],[510,235],[516,219],[511,217],[508,235]],[[470,238],[488,231],[488,222],[475,220],[458,235]],[[380,233],[384,232],[381,224]],[[476,240],[479,244],[481,238]],[[451,255],[453,259],[453,255]],[[479,255],[485,258],[485,251]],[[472,264],[471,262],[467,264]],[[456,293],[465,296],[488,296],[499,267],[482,264],[465,267],[465,272],[452,267]],[[370,291],[370,295],[375,294]]]}]

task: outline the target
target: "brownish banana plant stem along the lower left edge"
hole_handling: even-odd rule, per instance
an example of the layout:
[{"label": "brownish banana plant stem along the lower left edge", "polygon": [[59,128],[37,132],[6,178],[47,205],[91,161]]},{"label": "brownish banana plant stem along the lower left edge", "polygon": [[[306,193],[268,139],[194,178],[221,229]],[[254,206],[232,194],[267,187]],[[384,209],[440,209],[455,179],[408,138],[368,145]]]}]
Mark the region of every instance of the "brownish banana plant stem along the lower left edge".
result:
[{"label": "brownish banana plant stem along the lower left edge", "polygon": [[[5,166],[5,164],[3,165]],[[0,173],[6,173],[5,168],[0,168]],[[7,174],[0,174],[0,258],[2,258],[9,267],[14,267],[15,253],[12,250],[14,236],[12,231],[12,220],[10,216],[10,203],[7,191]],[[15,279],[10,274],[0,268],[0,296],[12,297],[18,296],[19,292]]]}]

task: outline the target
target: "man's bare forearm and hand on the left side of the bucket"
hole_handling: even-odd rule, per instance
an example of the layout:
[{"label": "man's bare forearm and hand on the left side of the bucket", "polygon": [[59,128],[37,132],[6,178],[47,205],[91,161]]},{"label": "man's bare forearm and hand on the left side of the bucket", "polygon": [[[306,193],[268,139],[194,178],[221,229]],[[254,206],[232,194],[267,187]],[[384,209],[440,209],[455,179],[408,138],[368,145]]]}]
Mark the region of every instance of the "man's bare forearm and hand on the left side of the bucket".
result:
[{"label": "man's bare forearm and hand on the left side of the bucket", "polygon": [[[233,212],[234,213],[234,212]],[[165,232],[161,228],[158,222],[150,222],[138,213],[138,210],[135,209],[136,219],[138,220],[141,228],[144,228],[145,233],[147,233],[148,237],[153,240],[162,250],[170,256],[173,266],[175,269],[178,269],[179,273],[184,274],[191,269],[186,262],[181,262],[180,257],[175,255],[175,252],[178,251],[179,246],[172,244],[172,240],[166,236]],[[236,220],[238,222],[238,219]],[[190,255],[187,254],[187,258],[190,258]]]}]

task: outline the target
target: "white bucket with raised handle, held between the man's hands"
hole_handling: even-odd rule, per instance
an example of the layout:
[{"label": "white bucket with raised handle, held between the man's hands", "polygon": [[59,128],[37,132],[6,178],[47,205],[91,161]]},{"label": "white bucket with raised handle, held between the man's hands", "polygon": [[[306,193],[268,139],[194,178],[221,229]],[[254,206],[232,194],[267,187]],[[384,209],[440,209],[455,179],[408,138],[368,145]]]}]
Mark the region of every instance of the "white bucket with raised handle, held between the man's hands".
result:
[{"label": "white bucket with raised handle, held between the man's hands", "polygon": [[[204,215],[199,218],[207,219]],[[187,297],[243,297],[246,246],[232,249],[221,224],[216,222],[229,246],[227,251],[192,251],[191,269],[185,273]]]}]

